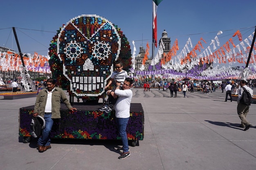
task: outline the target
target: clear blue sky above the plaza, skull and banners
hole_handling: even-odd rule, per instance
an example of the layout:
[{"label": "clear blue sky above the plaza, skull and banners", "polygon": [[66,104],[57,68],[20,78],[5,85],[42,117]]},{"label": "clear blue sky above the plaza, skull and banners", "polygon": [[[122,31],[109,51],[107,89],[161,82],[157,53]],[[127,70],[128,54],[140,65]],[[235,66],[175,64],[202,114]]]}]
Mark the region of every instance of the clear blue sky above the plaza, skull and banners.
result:
[{"label": "clear blue sky above the plaza, skull and banners", "polygon": [[[163,0],[157,9],[157,38],[165,29],[171,46],[177,38],[180,49],[189,37],[193,44],[202,37],[207,47],[220,30],[223,43],[238,29],[246,38],[256,26],[255,9],[255,0]],[[146,49],[146,43],[152,42],[152,0],[11,0],[1,2],[0,46],[18,51],[11,32],[14,26],[22,52],[47,55],[56,30],[82,14],[97,14],[118,25],[132,51],[135,41],[136,54],[140,45]]]}]

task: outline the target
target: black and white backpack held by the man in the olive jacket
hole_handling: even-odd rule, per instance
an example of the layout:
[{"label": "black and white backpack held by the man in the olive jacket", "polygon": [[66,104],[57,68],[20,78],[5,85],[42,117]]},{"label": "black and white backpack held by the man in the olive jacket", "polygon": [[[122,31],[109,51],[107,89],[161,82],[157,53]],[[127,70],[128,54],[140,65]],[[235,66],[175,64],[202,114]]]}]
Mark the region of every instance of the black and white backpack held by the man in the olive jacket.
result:
[{"label": "black and white backpack held by the man in the olive jacket", "polygon": [[42,130],[45,128],[45,119],[42,116],[37,115],[36,117],[32,117],[30,130],[32,137],[39,137],[42,135]]}]

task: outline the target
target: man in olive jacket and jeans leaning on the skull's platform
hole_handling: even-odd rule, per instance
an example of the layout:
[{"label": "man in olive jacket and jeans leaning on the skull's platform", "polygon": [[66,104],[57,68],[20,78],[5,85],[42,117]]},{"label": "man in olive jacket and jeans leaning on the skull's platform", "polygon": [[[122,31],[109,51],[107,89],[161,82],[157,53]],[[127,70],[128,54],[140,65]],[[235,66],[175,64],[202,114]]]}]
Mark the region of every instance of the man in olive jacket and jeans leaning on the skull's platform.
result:
[{"label": "man in olive jacket and jeans leaning on the skull's platform", "polygon": [[61,118],[61,101],[65,103],[69,110],[76,110],[67,100],[64,91],[61,88],[55,87],[55,80],[47,79],[47,88],[41,90],[36,97],[33,116],[42,116],[45,119],[45,128],[41,137],[38,139],[38,151],[44,152],[52,148],[50,145],[49,132],[52,129],[53,119]]}]

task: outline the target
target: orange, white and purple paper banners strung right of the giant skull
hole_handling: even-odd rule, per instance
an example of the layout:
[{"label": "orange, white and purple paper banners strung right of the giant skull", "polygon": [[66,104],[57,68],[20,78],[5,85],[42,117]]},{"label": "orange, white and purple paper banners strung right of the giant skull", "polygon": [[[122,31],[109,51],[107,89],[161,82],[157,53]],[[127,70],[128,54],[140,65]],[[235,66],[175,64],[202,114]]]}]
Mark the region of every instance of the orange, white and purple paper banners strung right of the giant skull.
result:
[{"label": "orange, white and purple paper banners strung right of the giant skull", "polygon": [[[217,35],[221,35],[222,31],[219,31]],[[186,75],[190,79],[209,79],[209,80],[221,80],[221,79],[239,79],[241,76],[241,69],[234,67],[225,67],[218,68],[217,65],[214,68],[207,68],[206,64],[209,63],[219,63],[219,64],[227,64],[227,62],[232,65],[233,63],[245,63],[248,59],[248,54],[251,48],[251,43],[253,40],[253,35],[249,35],[245,40],[243,40],[240,31],[236,31],[232,37],[238,37],[240,41],[239,44],[235,45],[234,41],[231,38],[225,44],[220,46],[220,42],[218,40],[218,36],[215,36],[213,40],[211,40],[211,44],[204,49],[203,44],[206,42],[200,38],[198,43],[193,46],[191,39],[189,38],[186,42],[182,51],[177,54],[179,50],[178,41],[175,40],[171,50],[166,54],[164,53],[164,43],[162,39],[159,44],[159,50],[157,51],[157,55],[152,59],[151,66],[155,66],[154,71],[149,67],[148,71],[144,71],[145,61],[148,60],[148,51],[149,46],[147,44],[146,54],[142,62],[141,68],[135,72],[135,44],[134,51],[132,54],[132,68],[131,68],[131,76],[134,78],[138,78],[138,76],[146,76],[150,77],[151,75],[155,75],[160,78],[172,78],[172,79],[182,79]],[[202,44],[203,43],[203,44]],[[217,49],[216,46],[220,46]],[[204,49],[204,50],[202,50]],[[202,52],[201,52],[202,51]],[[200,53],[198,55],[198,53]],[[160,62],[159,62],[160,61]],[[249,73],[249,79],[256,79],[256,47],[254,45],[254,50],[252,51],[252,56],[250,58],[249,64],[253,64],[250,66],[251,72]],[[204,68],[204,69],[199,69]],[[161,68],[162,67],[162,68]],[[195,71],[199,69],[200,71]]]}]

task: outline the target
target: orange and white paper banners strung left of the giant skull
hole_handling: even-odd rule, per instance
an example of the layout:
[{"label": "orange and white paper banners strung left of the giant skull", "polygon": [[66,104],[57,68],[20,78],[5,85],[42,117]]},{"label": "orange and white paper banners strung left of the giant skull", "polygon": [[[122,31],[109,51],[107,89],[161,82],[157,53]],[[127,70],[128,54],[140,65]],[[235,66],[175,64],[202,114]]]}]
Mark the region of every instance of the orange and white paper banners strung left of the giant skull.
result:
[{"label": "orange and white paper banners strung left of the giant skull", "polygon": [[[26,56],[27,57],[26,57]],[[23,53],[24,64],[28,71],[39,73],[51,73],[50,66],[48,64],[48,57],[44,55],[38,55],[34,53]],[[20,55],[11,51],[0,52],[0,70],[1,71],[18,71],[19,66],[22,65]]]}]

